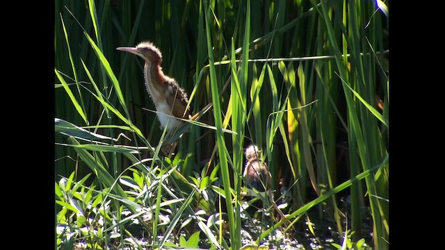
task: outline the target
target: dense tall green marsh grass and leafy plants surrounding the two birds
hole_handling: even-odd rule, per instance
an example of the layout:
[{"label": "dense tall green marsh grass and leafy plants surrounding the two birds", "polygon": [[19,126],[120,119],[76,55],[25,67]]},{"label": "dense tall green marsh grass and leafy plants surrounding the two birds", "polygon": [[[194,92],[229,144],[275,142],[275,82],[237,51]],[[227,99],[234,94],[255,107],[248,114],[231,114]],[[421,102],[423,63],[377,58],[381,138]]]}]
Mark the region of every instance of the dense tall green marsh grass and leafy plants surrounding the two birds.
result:
[{"label": "dense tall green marsh grass and leafy plants surrounding the two birds", "polygon": [[[287,220],[257,244],[316,208],[339,235],[347,219],[355,242],[371,217],[368,243],[389,247],[384,2],[56,1],[54,18],[59,249],[142,248],[130,222],[152,247],[186,230],[207,248],[240,249],[248,144],[263,149],[275,197],[280,178],[293,195]],[[201,113],[173,138],[142,60],[115,50],[143,40]],[[163,156],[161,142],[184,131],[175,158]]]}]

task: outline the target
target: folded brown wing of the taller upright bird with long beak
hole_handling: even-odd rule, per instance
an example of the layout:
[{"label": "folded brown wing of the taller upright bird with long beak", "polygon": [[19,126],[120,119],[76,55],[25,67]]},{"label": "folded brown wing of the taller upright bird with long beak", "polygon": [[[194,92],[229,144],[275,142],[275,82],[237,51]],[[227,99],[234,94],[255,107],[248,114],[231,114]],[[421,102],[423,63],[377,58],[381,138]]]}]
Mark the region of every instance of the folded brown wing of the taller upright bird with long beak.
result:
[{"label": "folded brown wing of the taller upright bird with long beak", "polygon": [[188,98],[186,92],[179,87],[175,79],[168,79],[168,81],[170,81],[171,88],[169,88],[170,94],[168,95],[167,102],[173,106],[173,115],[188,119],[190,107],[187,107]]}]

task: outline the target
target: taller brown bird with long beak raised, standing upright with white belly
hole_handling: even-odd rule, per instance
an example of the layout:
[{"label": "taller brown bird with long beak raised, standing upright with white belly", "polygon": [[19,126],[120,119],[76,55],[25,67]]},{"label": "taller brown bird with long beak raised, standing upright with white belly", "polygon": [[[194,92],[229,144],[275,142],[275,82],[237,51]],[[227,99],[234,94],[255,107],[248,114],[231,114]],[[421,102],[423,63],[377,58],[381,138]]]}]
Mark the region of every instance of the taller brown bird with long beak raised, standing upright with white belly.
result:
[{"label": "taller brown bird with long beak raised, standing upright with white belly", "polygon": [[[141,42],[136,47],[118,47],[120,51],[133,53],[145,60],[144,81],[149,97],[152,98],[156,107],[157,116],[161,128],[167,126],[167,135],[175,132],[183,122],[182,119],[190,118],[190,108],[187,106],[188,98],[186,92],[179,87],[174,78],[165,76],[162,72],[162,53],[152,42]],[[164,153],[172,153],[177,142],[164,147]]]}]

